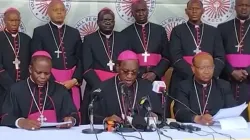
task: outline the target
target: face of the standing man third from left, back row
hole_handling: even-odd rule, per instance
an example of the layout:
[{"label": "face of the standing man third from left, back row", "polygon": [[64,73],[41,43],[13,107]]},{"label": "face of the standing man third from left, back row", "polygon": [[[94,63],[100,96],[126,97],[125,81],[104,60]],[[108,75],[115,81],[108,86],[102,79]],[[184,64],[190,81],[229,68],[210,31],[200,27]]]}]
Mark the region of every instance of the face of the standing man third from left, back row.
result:
[{"label": "face of the standing man third from left, back row", "polygon": [[115,26],[115,19],[111,13],[104,13],[100,15],[100,18],[97,23],[101,31],[111,32],[113,31]]}]

